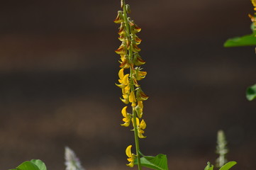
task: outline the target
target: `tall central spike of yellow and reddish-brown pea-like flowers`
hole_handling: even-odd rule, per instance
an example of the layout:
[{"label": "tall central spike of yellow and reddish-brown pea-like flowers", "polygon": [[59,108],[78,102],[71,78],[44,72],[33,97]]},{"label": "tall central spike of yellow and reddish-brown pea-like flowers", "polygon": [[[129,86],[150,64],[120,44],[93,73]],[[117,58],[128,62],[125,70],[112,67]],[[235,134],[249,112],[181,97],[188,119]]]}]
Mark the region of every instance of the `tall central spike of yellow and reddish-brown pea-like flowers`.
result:
[{"label": "tall central spike of yellow and reddish-brown pea-like flowers", "polygon": [[[145,64],[145,61],[139,55],[140,48],[138,45],[140,44],[141,39],[136,35],[136,33],[140,32],[141,28],[128,17],[130,6],[126,4],[124,0],[121,0],[121,8],[123,11],[118,11],[118,15],[114,20],[115,23],[120,24],[118,39],[121,41],[120,47],[116,50],[116,53],[120,55],[119,62],[121,67],[118,72],[119,83],[116,84],[116,86],[122,90],[121,101],[125,104],[130,103],[132,108],[132,113],[128,113],[128,106],[123,107],[121,113],[123,115],[124,123],[121,125],[128,127],[132,122],[135,136],[145,138],[143,133],[146,128],[146,123],[145,120],[140,119],[143,116],[143,101],[147,100],[148,96],[143,92],[138,81],[144,79],[147,72],[143,72],[140,67]],[[129,151],[130,147],[131,145],[126,149],[126,154],[128,155],[129,160],[134,160]],[[138,152],[137,145],[136,150]],[[131,162],[128,166],[133,166],[133,163]]]}]

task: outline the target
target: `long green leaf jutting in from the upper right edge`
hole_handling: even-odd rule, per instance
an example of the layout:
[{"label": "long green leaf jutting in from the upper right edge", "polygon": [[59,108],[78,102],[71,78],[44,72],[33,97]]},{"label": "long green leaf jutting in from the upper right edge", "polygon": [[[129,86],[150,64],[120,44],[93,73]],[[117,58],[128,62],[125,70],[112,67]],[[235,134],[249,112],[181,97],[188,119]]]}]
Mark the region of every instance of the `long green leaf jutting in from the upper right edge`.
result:
[{"label": "long green leaf jutting in from the upper right edge", "polygon": [[256,45],[255,33],[243,37],[230,38],[224,43],[224,47],[240,47]]}]

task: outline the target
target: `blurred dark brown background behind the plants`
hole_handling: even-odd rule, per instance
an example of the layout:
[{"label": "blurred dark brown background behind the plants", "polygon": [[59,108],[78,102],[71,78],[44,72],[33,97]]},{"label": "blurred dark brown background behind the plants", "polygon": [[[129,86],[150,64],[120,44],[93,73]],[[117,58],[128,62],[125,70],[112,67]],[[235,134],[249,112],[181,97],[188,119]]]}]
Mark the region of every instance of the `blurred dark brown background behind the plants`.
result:
[{"label": "blurred dark brown background behind the plants", "polygon": [[[255,169],[255,47],[224,48],[251,32],[249,0],[127,0],[142,29],[140,83],[148,124],[144,154],[167,154],[169,169],[215,162],[216,133],[228,139],[234,169]],[[88,170],[129,169],[115,86],[120,45],[113,0],[1,1],[0,166],[42,159],[65,169],[64,147]]]}]

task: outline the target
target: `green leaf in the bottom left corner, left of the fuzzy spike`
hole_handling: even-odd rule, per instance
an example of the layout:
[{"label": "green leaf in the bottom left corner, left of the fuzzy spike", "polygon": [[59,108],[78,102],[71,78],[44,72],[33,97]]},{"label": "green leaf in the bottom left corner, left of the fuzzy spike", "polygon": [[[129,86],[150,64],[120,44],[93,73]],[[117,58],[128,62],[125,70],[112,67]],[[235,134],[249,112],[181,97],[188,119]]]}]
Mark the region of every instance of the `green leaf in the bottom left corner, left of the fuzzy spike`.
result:
[{"label": "green leaf in the bottom left corner, left of the fuzzy spike", "polygon": [[47,170],[45,163],[39,159],[32,159],[30,161],[23,162],[16,169],[11,170]]}]

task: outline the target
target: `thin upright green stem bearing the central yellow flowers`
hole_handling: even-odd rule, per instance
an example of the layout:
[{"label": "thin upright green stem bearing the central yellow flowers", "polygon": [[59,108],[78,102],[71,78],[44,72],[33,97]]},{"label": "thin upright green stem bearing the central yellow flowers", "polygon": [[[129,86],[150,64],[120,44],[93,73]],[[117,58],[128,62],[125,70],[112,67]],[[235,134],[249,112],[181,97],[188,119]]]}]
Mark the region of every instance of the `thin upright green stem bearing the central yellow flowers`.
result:
[{"label": "thin upright green stem bearing the central yellow flowers", "polygon": [[[127,34],[127,38],[128,41],[131,41],[130,38],[130,26],[128,23],[128,17],[127,17],[127,11],[126,11],[126,2],[125,0],[121,0],[122,4],[123,4],[123,18],[125,20],[125,24],[126,24],[126,34]],[[129,48],[129,62],[130,65],[132,64],[133,61],[133,50],[130,47]],[[134,83],[133,83],[133,67],[130,66],[130,91],[134,91]],[[135,148],[136,148],[136,155],[137,155],[137,160],[138,160],[138,170],[141,170],[141,163],[140,163],[140,145],[139,145],[139,138],[138,138],[138,125],[137,125],[137,121],[136,121],[136,111],[135,111],[135,107],[133,106],[133,126],[134,126],[134,138],[135,138]]]}]

